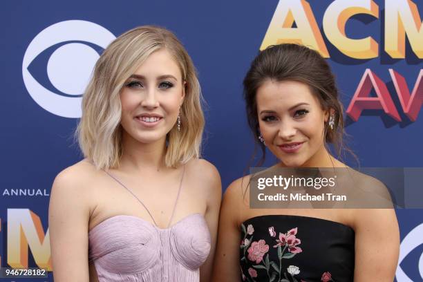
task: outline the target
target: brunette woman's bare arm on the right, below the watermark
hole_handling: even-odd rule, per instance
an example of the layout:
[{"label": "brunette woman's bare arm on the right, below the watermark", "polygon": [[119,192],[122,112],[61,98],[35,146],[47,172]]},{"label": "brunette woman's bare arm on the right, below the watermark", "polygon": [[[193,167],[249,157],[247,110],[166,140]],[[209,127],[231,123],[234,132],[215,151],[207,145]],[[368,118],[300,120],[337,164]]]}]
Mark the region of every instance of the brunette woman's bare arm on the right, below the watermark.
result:
[{"label": "brunette woman's bare arm on the right, below the watermark", "polygon": [[354,281],[392,282],[399,254],[400,230],[395,210],[357,210]]}]

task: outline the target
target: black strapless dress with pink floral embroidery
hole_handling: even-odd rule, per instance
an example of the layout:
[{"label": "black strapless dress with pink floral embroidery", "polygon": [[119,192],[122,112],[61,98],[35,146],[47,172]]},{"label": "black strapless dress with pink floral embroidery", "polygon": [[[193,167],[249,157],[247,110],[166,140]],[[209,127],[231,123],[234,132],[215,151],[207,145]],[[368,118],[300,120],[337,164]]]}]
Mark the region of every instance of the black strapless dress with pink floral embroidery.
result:
[{"label": "black strapless dress with pink floral embroidery", "polygon": [[242,281],[353,281],[355,232],[335,221],[267,215],[241,225]]}]

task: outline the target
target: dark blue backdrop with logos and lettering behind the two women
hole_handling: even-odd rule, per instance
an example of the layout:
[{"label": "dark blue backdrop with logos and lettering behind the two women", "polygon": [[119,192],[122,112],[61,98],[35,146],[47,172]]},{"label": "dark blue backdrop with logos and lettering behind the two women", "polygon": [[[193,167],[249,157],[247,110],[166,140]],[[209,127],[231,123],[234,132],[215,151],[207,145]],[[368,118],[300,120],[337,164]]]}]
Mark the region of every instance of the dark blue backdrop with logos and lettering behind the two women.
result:
[{"label": "dark blue backdrop with logos and lettering behind the two women", "polygon": [[[328,59],[362,167],[423,167],[422,15],[422,0],[1,1],[1,266],[52,270],[50,188],[82,159],[73,139],[82,93],[122,32],[154,24],[185,44],[207,101],[204,157],[225,189],[254,149],[243,76],[260,49],[282,42],[302,42]],[[422,281],[423,210],[397,216],[396,279]]]}]

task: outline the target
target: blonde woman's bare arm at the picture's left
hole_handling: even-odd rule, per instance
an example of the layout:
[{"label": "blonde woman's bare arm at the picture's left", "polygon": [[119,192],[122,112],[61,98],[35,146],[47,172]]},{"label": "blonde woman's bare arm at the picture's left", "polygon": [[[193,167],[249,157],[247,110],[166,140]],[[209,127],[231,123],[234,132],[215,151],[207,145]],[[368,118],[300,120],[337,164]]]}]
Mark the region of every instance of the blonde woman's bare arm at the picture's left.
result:
[{"label": "blonde woman's bare arm at the picture's left", "polygon": [[66,169],[55,178],[48,208],[53,276],[56,282],[89,281],[86,189],[77,171]]}]

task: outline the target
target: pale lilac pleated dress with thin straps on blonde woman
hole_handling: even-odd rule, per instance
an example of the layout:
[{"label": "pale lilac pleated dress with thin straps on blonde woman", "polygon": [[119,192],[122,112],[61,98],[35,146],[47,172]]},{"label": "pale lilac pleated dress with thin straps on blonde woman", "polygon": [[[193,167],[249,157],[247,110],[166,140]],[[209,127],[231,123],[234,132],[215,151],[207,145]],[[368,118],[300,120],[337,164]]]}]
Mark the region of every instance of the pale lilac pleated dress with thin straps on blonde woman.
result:
[{"label": "pale lilac pleated dress with thin straps on blonde woman", "polygon": [[100,282],[198,282],[209,251],[210,233],[202,214],[186,216],[166,229],[137,216],[113,216],[88,233],[88,259]]}]

